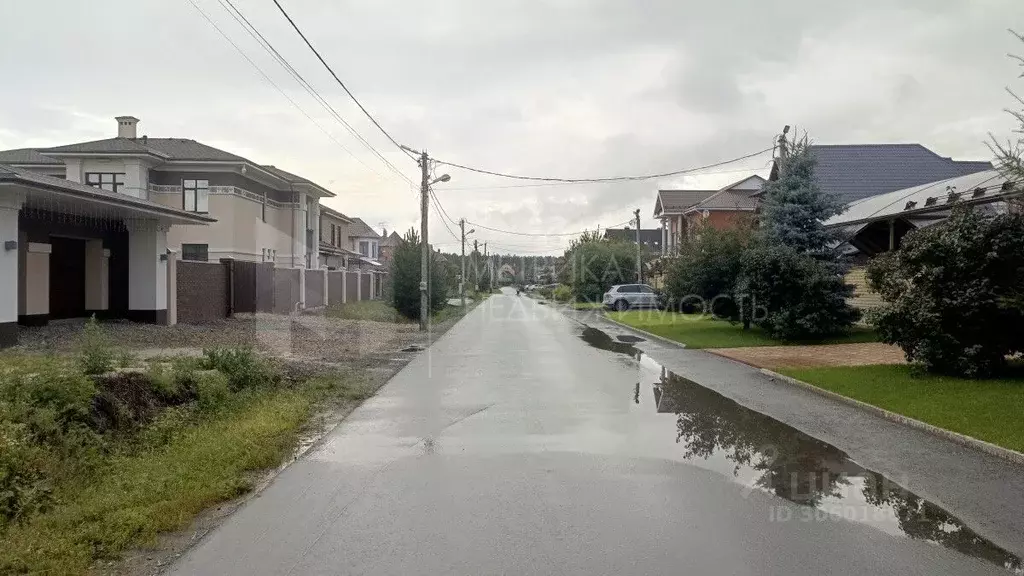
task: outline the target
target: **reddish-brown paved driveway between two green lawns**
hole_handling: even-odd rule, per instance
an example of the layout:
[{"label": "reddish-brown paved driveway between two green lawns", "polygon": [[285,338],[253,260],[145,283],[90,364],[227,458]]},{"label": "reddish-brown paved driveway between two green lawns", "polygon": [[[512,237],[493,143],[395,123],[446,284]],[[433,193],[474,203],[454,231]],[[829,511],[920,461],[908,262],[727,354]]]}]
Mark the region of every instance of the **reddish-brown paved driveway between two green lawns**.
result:
[{"label": "reddish-brown paved driveway between two green lawns", "polygon": [[866,366],[870,364],[906,364],[903,351],[882,342],[821,344],[808,346],[750,346],[742,348],[706,348],[705,352],[737,360],[758,368],[821,368],[826,366]]}]

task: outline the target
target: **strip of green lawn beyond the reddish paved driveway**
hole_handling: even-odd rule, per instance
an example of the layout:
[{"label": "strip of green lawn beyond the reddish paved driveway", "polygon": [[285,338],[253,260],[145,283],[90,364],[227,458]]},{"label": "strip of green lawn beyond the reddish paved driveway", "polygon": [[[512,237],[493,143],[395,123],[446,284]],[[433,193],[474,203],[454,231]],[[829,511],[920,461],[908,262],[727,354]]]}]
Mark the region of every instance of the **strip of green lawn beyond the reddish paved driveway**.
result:
[{"label": "strip of green lawn beyond the reddish paved driveway", "polygon": [[739,324],[700,315],[664,311],[609,312],[608,318],[686,344],[690,348],[730,348],[745,346],[777,346],[784,344],[833,344],[873,342],[878,339],[870,328],[855,327],[847,336],[815,342],[785,342],[769,338],[760,328],[743,330]]}]

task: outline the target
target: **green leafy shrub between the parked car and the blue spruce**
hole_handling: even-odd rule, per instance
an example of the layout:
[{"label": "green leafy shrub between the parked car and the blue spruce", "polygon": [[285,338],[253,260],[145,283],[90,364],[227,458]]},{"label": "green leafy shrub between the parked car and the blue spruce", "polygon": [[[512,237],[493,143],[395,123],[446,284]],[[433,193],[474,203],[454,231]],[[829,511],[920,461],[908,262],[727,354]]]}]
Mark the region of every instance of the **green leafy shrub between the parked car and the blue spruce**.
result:
[{"label": "green leafy shrub between the parked car and the blue spruce", "polygon": [[732,294],[742,271],[742,253],[751,241],[746,225],[718,230],[710,222],[697,229],[669,264],[666,296],[681,312],[701,312],[735,319]]}]

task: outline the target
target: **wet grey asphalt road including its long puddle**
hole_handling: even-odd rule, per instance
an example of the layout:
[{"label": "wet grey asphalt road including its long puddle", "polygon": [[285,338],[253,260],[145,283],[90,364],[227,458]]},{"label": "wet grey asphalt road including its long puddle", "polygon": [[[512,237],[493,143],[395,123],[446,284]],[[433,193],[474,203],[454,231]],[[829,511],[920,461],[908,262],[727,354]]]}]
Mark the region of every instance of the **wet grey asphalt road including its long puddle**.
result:
[{"label": "wet grey asphalt road including its long puddle", "polygon": [[473,311],[173,574],[1006,574],[831,445],[512,293]]}]

